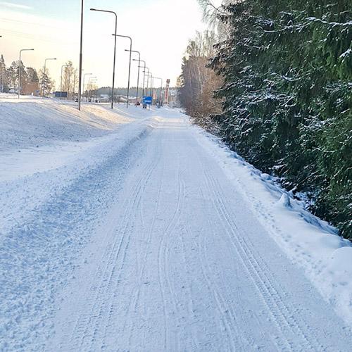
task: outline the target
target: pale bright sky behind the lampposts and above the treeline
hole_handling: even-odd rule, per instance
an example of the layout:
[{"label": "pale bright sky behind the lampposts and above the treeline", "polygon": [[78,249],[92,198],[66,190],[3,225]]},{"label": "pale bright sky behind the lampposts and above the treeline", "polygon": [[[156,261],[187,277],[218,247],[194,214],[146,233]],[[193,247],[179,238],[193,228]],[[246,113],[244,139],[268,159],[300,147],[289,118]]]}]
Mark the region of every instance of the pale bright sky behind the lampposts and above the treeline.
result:
[{"label": "pale bright sky behind the lampposts and above the treeline", "polygon": [[[51,77],[59,84],[61,65],[68,60],[78,67],[80,42],[80,0],[0,1],[0,54],[6,65],[18,60],[20,49],[26,66],[42,68],[45,58]],[[98,85],[111,86],[115,19],[112,14],[89,11],[102,8],[118,13],[118,34],[133,39],[153,75],[170,78],[180,75],[182,56],[196,30],[204,30],[196,0],[85,0],[84,73],[93,73]],[[127,86],[129,41],[118,39],[117,87]],[[137,54],[135,56],[137,58]],[[132,85],[137,83],[137,63],[132,65]]]}]

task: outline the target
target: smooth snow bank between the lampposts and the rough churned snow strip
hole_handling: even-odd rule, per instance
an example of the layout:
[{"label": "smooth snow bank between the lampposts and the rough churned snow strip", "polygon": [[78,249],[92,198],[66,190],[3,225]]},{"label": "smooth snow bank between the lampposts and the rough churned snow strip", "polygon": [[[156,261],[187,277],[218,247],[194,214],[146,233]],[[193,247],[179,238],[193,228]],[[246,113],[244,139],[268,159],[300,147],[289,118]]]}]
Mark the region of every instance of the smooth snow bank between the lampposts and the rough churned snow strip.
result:
[{"label": "smooth snow bank between the lampposts and the rough churned snow strip", "polygon": [[0,95],[0,232],[108,158],[116,133],[130,122],[136,127],[118,138],[118,145],[150,123],[145,120],[151,113],[134,106],[111,111],[108,104],[84,104],[78,112],[76,105]]}]

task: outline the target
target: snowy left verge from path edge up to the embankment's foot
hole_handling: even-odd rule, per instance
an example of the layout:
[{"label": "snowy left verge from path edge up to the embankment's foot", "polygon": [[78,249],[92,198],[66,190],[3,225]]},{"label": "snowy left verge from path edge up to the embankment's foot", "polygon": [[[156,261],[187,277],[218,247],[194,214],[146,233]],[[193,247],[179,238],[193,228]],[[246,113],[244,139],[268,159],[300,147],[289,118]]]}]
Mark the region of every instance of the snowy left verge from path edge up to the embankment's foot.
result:
[{"label": "snowy left verge from path edge up to the embankment's foot", "polygon": [[0,182],[0,351],[44,346],[56,294],[72,278],[155,123],[125,125],[92,139],[63,165]]}]

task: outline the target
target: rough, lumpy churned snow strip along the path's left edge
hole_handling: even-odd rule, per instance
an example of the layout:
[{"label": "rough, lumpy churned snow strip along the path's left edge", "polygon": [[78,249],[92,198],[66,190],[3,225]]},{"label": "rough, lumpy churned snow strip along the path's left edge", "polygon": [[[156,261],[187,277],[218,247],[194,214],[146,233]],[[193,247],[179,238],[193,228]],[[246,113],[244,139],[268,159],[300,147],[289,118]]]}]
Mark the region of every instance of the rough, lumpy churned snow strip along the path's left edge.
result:
[{"label": "rough, lumpy churned snow strip along the path's left edge", "polygon": [[[104,155],[100,163],[89,165],[72,183],[34,208],[29,218],[20,219],[21,222],[2,237],[3,241],[16,244],[11,251],[18,253],[18,261],[7,263],[9,275],[6,285],[0,287],[0,304],[13,306],[8,298],[15,295],[22,302],[18,312],[15,307],[8,310],[11,315],[21,317],[10,328],[12,337],[3,336],[3,341],[8,339],[8,348],[15,348],[13,344],[18,348],[22,340],[26,341],[28,349],[39,344],[44,346],[45,339],[51,336],[56,292],[65,286],[76,266],[77,252],[89,241],[96,221],[108,211],[108,203],[119,191],[118,184],[131,161],[128,151],[134,142],[132,139],[118,146],[108,157]],[[117,185],[112,184],[113,179]],[[0,260],[3,258],[1,251],[6,250],[6,246],[1,247]],[[22,282],[25,289],[15,289],[16,281]],[[11,294],[6,294],[6,289],[11,289]]]}]

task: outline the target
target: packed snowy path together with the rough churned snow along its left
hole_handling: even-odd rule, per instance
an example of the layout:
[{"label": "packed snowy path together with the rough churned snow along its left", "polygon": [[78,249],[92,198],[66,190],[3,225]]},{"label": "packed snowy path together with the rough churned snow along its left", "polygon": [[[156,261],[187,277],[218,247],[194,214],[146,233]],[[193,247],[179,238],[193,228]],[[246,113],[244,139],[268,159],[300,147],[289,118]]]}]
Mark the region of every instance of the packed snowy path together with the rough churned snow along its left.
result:
[{"label": "packed snowy path together with the rough churned snow along its left", "polygon": [[124,126],[6,230],[4,351],[351,351],[202,138],[168,109]]}]

